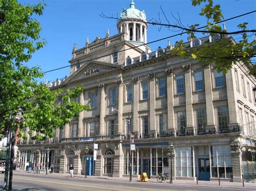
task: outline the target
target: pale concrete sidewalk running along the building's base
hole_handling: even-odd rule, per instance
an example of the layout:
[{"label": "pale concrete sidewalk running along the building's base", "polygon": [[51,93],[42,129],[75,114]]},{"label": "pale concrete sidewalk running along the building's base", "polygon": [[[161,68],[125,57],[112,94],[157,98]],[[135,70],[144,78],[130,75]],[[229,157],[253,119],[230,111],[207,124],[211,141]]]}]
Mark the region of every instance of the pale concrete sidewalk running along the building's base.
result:
[{"label": "pale concrete sidewalk running along the building's base", "polygon": [[[14,174],[28,174],[24,171],[14,171]],[[35,174],[35,176],[43,176],[45,172],[41,171],[40,174]],[[70,178],[70,174],[68,173],[48,173],[47,176],[54,176],[54,177],[63,177],[63,178]],[[74,178],[84,179],[84,175],[74,175]],[[129,182],[129,176],[124,178],[116,178],[110,176],[87,176],[89,180],[111,180],[111,181],[118,181],[118,182]],[[168,184],[168,183],[159,183],[157,182],[156,178],[149,179],[149,182],[140,181],[138,178],[132,178],[133,183],[153,183],[153,184]],[[256,190],[256,183],[248,183],[245,182],[245,187],[242,187],[241,182],[219,182],[218,181],[190,181],[190,180],[173,180],[174,186],[190,186],[190,187],[215,187],[215,188],[236,188],[236,189],[254,189]]]}]

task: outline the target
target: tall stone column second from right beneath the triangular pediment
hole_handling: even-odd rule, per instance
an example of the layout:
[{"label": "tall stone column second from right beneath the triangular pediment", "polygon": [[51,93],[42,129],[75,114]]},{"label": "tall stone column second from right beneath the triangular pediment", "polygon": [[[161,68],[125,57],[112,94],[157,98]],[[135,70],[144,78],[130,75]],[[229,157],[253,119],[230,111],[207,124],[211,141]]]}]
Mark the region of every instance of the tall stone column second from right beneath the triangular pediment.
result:
[{"label": "tall stone column second from right beneath the triangular pediment", "polygon": [[99,136],[105,135],[105,84],[99,84],[100,88],[100,114],[99,114]]}]

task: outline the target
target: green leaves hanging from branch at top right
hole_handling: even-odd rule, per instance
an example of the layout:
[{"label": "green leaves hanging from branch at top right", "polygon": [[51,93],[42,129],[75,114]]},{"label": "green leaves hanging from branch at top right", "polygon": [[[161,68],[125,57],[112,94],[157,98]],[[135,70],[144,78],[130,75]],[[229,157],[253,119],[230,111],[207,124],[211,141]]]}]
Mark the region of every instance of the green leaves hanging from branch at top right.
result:
[{"label": "green leaves hanging from branch at top right", "polygon": [[172,55],[179,55],[182,58],[197,59],[202,65],[210,65],[214,62],[214,68],[218,72],[223,71],[227,73],[233,66],[233,64],[238,61],[243,63],[249,63],[250,74],[256,76],[256,67],[251,65],[251,58],[255,57],[255,44],[256,41],[250,41],[247,36],[247,24],[242,23],[238,25],[238,29],[235,33],[240,33],[242,40],[235,43],[232,38],[227,38],[227,31],[221,29],[221,26],[215,23],[220,22],[223,19],[223,14],[221,13],[220,5],[214,5],[213,0],[192,0],[192,6],[198,6],[204,4],[201,8],[201,13],[199,15],[205,16],[207,19],[207,24],[204,31],[197,30],[199,24],[194,24],[190,26],[187,30],[187,34],[190,35],[191,39],[196,38],[196,33],[210,33],[212,38],[215,35],[220,34],[220,38],[214,40],[211,46],[201,45],[199,47],[194,47],[192,49],[184,49],[183,41],[179,41],[178,45],[172,49]]}]

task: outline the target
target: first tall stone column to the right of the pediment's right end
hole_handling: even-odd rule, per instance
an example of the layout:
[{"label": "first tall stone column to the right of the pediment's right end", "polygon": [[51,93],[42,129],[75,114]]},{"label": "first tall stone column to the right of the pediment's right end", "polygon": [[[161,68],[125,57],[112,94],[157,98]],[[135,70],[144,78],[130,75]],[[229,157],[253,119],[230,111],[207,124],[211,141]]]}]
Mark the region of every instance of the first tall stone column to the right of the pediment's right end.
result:
[{"label": "first tall stone column to the right of the pediment's right end", "polygon": [[133,84],[133,132],[139,132],[139,84],[138,84],[139,77],[133,77],[132,81]]}]

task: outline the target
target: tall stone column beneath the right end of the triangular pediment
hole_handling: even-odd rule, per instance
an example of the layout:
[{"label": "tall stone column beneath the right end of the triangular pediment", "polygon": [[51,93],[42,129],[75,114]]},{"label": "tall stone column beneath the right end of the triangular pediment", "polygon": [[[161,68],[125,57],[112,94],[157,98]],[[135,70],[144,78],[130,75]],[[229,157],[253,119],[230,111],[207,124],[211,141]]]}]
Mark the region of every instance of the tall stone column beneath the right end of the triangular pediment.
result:
[{"label": "tall stone column beneath the right end of the triangular pediment", "polygon": [[[118,111],[123,115],[124,104],[124,81],[122,79],[117,80],[118,84]],[[117,135],[123,134],[123,117],[117,114]]]}]

